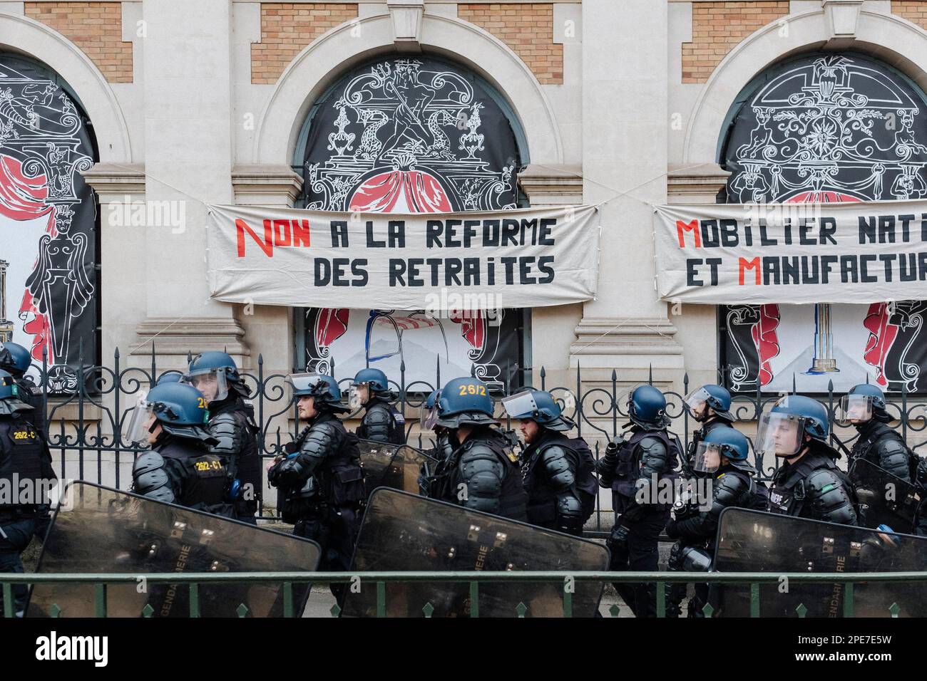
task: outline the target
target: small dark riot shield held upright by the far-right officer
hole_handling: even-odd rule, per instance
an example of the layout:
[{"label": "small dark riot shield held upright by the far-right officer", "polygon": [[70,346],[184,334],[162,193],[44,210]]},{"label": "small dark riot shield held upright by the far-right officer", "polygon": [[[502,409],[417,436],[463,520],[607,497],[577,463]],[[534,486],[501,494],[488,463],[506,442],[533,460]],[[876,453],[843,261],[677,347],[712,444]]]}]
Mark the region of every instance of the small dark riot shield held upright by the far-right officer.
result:
[{"label": "small dark riot shield held upright by the far-right officer", "polygon": [[888,525],[895,532],[913,532],[921,490],[870,460],[857,458],[850,466],[857,492],[859,521],[867,527]]}]

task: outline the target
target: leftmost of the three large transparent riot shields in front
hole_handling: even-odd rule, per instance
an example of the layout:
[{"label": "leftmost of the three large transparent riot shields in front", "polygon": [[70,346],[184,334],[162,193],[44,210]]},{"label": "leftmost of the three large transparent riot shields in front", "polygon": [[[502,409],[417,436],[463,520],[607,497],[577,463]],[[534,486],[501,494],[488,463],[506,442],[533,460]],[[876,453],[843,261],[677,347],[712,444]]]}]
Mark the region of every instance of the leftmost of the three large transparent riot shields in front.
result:
[{"label": "leftmost of the three large transparent riot shields in front", "polygon": [[[36,572],[49,573],[209,573],[314,572],[319,545],[210,513],[165,504],[91,483],[72,483],[55,514]],[[70,510],[66,510],[71,507]],[[282,585],[200,584],[203,617],[237,617],[242,604],[252,617],[283,615]],[[304,590],[294,585],[294,592]],[[93,617],[95,591],[87,584],[37,584],[30,617],[60,609],[64,617]],[[294,596],[294,603],[298,598]],[[110,584],[110,617],[189,616],[186,584]]]}]

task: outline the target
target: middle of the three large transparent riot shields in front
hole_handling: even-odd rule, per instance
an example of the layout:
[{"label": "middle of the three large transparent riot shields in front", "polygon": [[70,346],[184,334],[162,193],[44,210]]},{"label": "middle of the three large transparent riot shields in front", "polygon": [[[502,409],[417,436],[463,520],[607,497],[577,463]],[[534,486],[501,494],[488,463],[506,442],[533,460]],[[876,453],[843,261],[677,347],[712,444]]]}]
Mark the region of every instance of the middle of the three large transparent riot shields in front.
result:
[{"label": "middle of the three large transparent riot shields in front", "polygon": [[[392,489],[374,491],[364,513],[351,569],[366,571],[562,570],[608,568],[601,544],[518,523],[489,513],[416,497]],[[527,617],[562,617],[564,585],[481,582],[471,600],[465,582],[408,582],[386,585],[389,617],[422,617],[430,604],[432,617],[515,617],[519,603]],[[598,609],[603,585],[577,581],[573,614],[591,617]],[[376,615],[376,587],[349,589],[343,615]]]}]

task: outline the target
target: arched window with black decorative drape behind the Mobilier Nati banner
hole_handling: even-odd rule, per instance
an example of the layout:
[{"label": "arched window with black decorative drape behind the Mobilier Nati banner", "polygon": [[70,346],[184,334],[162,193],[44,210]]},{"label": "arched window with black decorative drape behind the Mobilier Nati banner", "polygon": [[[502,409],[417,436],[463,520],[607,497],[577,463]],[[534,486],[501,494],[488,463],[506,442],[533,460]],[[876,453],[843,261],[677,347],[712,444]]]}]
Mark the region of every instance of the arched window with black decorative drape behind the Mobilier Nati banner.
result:
[{"label": "arched window with black decorative drape behind the Mobilier Nati banner", "polygon": [[[906,76],[855,53],[810,54],[744,88],[719,141],[730,203],[885,201],[927,195],[927,99]],[[728,306],[730,386],[837,391],[867,375],[927,390],[925,301]],[[921,370],[925,371],[921,371]]]}]

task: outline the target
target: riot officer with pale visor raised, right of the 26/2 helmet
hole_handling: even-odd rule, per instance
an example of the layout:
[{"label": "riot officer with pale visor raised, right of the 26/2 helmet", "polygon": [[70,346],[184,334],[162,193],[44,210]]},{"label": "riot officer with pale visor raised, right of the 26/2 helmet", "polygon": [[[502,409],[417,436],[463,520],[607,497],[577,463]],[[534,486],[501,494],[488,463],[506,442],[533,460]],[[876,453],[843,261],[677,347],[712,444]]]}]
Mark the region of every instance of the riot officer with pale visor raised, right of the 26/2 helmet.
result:
[{"label": "riot officer with pale visor raised, right of the 26/2 helmet", "polygon": [[582,536],[598,492],[589,446],[581,438],[564,435],[574,423],[546,391],[505,397],[502,406],[520,422],[525,438],[522,482],[527,494],[527,522]]}]

